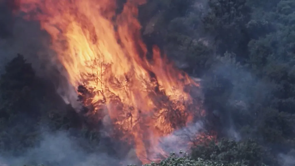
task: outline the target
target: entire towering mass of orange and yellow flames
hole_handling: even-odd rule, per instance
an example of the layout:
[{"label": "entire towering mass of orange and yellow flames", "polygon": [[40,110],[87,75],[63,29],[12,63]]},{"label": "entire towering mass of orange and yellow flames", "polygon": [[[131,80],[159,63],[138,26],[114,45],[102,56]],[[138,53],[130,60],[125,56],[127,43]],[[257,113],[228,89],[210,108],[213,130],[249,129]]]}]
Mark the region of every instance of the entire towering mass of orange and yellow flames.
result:
[{"label": "entire towering mass of orange and yellow flames", "polygon": [[[154,46],[148,58],[137,6],[145,0],[22,0],[20,10],[39,20],[89,116],[110,119],[111,136],[125,140],[143,164],[166,155],[160,138],[193,121],[198,87]],[[99,113],[99,114],[97,114]],[[173,146],[173,145],[172,145]]]}]

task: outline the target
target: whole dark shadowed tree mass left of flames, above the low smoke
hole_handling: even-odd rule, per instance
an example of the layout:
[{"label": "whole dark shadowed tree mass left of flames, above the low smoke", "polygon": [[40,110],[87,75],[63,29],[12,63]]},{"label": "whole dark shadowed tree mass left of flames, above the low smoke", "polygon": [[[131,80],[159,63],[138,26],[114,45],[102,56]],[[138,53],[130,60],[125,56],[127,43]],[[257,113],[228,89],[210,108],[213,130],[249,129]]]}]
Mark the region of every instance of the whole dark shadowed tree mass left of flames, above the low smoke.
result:
[{"label": "whole dark shadowed tree mass left of flames, above the low smoke", "polygon": [[65,108],[50,84],[35,75],[22,55],[12,59],[5,71],[0,77],[1,154],[23,154],[40,140],[42,125],[62,129],[73,124],[65,111],[70,108]]}]

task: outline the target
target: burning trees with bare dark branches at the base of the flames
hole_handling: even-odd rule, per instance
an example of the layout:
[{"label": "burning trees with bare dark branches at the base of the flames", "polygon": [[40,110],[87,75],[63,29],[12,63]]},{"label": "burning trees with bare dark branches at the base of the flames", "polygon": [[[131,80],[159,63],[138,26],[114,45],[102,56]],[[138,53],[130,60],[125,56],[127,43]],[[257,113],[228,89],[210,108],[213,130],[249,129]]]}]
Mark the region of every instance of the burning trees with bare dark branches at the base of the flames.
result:
[{"label": "burning trees with bare dark branches at the base of the flames", "polygon": [[[95,115],[97,119],[103,121],[109,119],[112,112],[115,112],[116,117],[110,118],[109,122],[104,124],[105,128],[110,128],[106,126],[108,124],[112,125],[112,130],[107,132],[109,136],[127,141],[131,145],[141,144],[144,148],[143,152],[146,153],[141,157],[146,160],[150,160],[150,155],[159,159],[167,157],[167,152],[161,152],[159,149],[155,153],[154,148],[158,141],[153,140],[152,137],[160,139],[174,130],[185,127],[191,121],[189,118],[192,118],[192,113],[197,112],[194,110],[197,109],[196,103],[190,103],[183,97],[179,100],[171,100],[171,96],[165,94],[155,77],[140,77],[143,85],[140,90],[147,93],[146,97],[151,99],[153,109],[138,109],[137,105],[128,101],[132,100],[130,97],[135,87],[132,85],[134,83],[132,73],[118,78],[109,72],[112,65],[106,63],[103,58],[86,62],[86,66],[91,70],[82,73],[83,82],[77,89],[78,100],[85,106],[86,115]],[[122,93],[116,95],[118,91],[121,91],[123,95]],[[122,96],[125,97],[125,101],[121,100]]]}]

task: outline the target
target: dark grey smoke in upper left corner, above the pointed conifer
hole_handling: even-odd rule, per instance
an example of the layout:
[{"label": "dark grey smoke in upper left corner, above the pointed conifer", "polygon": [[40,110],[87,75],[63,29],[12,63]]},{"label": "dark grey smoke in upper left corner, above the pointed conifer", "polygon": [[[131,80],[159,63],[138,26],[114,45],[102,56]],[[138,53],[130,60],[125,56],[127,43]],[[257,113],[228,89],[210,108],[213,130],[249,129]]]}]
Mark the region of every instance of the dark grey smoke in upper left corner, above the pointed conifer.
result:
[{"label": "dark grey smoke in upper left corner, above the pointed conifer", "polygon": [[[0,50],[1,66],[11,60],[17,53],[23,54],[32,63],[36,71],[42,75],[41,69],[48,67],[44,61],[51,59],[47,33],[40,30],[38,22],[27,21],[15,17],[6,1],[0,1]],[[45,65],[46,64],[46,65]],[[45,66],[44,66],[45,65]]]}]

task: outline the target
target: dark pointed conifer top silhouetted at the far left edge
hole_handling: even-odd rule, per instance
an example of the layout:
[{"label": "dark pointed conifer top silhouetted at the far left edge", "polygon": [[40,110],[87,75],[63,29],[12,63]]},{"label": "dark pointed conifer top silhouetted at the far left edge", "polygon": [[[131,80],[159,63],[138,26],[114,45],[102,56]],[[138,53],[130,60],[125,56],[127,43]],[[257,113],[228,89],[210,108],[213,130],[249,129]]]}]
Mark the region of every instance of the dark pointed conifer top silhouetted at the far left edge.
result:
[{"label": "dark pointed conifer top silhouetted at the far left edge", "polygon": [[9,117],[11,113],[20,111],[28,107],[35,80],[35,71],[31,64],[25,63],[24,57],[17,55],[9,64],[5,66],[5,74],[1,75],[0,92],[2,107],[2,118]]}]

